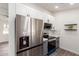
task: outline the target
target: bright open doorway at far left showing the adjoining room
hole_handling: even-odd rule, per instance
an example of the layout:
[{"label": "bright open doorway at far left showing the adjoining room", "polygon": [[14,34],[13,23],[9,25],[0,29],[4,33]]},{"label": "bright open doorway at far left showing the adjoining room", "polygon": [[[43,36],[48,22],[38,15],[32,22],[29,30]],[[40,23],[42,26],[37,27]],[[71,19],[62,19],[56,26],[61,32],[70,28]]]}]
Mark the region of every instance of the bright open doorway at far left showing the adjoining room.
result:
[{"label": "bright open doorway at far left showing the adjoining room", "polygon": [[8,4],[0,3],[0,56],[8,56]]}]

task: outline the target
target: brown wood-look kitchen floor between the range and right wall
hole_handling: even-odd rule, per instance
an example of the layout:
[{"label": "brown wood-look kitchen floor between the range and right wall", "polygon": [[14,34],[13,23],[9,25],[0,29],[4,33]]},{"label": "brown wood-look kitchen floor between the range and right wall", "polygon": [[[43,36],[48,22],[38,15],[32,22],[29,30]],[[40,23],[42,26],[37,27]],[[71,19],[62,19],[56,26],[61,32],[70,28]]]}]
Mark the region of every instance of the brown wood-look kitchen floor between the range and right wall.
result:
[{"label": "brown wood-look kitchen floor between the range and right wall", "polygon": [[69,52],[67,50],[58,48],[54,53],[52,53],[50,56],[79,56],[75,53]]}]

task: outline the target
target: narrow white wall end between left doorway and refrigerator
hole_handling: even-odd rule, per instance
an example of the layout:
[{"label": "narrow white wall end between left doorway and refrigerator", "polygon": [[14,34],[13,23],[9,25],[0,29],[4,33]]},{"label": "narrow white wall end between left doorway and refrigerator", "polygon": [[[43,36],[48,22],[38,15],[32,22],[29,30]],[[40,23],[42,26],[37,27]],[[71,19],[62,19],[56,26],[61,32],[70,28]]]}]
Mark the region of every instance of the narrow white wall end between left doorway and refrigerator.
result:
[{"label": "narrow white wall end between left doorway and refrigerator", "polygon": [[15,3],[9,3],[9,56],[15,56]]}]

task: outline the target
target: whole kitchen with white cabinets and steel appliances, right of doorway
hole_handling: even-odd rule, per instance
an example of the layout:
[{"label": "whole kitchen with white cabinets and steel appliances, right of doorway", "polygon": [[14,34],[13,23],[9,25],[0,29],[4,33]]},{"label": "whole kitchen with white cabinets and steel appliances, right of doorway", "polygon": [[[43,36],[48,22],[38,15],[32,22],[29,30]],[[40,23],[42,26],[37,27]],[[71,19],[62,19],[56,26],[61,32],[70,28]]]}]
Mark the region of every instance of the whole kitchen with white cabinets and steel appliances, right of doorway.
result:
[{"label": "whole kitchen with white cabinets and steel appliances, right of doorway", "polygon": [[8,55],[79,56],[78,10],[76,3],[8,3]]}]

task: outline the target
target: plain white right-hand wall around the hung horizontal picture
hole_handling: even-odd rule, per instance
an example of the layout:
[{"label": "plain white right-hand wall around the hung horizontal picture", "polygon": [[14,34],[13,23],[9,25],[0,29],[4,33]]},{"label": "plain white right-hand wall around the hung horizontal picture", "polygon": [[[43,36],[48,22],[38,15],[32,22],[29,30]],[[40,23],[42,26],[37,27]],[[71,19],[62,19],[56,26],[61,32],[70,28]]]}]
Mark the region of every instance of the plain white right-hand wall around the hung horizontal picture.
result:
[{"label": "plain white right-hand wall around the hung horizontal picture", "polygon": [[[65,31],[64,24],[78,24],[77,31]],[[55,27],[60,31],[60,47],[79,54],[79,9],[56,13]]]}]

